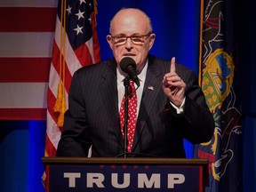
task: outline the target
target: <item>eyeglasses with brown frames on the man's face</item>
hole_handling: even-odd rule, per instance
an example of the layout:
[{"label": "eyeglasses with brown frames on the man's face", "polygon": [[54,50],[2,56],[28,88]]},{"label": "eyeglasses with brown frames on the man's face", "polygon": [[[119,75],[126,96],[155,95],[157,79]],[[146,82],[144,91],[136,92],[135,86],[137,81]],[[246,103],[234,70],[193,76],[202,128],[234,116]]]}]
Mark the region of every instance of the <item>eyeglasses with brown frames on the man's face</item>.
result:
[{"label": "eyeglasses with brown frames on the man's face", "polygon": [[123,44],[125,44],[128,38],[131,39],[132,44],[142,45],[145,42],[144,37],[150,36],[150,34],[151,33],[148,33],[146,35],[111,36],[111,38],[114,40],[114,44],[116,44],[116,45],[123,45]]}]

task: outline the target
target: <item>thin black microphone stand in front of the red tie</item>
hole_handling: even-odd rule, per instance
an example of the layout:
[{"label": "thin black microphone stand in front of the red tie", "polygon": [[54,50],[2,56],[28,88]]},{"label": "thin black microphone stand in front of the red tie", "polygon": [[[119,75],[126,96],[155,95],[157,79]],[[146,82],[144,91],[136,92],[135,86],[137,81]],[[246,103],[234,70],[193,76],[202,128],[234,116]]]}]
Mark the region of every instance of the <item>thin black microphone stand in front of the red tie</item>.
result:
[{"label": "thin black microphone stand in front of the red tie", "polygon": [[127,152],[128,152],[128,138],[127,138],[127,132],[128,132],[128,104],[129,104],[129,86],[130,86],[130,82],[129,82],[129,78],[128,76],[126,76],[124,78],[124,127],[123,127],[123,131],[124,131],[124,158],[127,157]]}]

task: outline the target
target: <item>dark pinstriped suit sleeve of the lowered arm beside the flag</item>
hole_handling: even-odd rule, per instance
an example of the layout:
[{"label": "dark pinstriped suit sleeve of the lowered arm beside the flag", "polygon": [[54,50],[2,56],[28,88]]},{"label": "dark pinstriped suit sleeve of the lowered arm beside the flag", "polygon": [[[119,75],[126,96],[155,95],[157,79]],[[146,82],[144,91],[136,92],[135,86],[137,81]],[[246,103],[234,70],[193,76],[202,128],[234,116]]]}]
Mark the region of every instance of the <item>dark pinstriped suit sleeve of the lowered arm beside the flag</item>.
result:
[{"label": "dark pinstriped suit sleeve of the lowered arm beside the flag", "polygon": [[86,133],[88,125],[86,124],[82,85],[77,72],[72,78],[68,105],[56,156],[88,156],[91,142]]}]

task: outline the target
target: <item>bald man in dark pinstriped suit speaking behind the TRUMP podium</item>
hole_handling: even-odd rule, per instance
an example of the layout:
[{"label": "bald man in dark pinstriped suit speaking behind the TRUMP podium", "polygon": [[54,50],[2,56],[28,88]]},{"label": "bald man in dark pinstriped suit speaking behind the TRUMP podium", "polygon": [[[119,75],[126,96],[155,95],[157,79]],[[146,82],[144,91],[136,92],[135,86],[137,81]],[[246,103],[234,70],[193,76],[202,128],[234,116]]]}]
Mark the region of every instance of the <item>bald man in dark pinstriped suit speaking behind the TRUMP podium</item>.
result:
[{"label": "bald man in dark pinstriped suit speaking behind the TRUMP podium", "polygon": [[[148,54],[154,44],[151,21],[138,9],[122,9],[110,22],[108,44],[114,58],[80,68],[69,90],[68,111],[57,156],[186,157],[183,139],[211,140],[214,121],[192,70]],[[119,109],[127,74],[120,62],[130,57],[137,65],[134,136],[124,146]],[[128,127],[129,129],[129,127]]]}]

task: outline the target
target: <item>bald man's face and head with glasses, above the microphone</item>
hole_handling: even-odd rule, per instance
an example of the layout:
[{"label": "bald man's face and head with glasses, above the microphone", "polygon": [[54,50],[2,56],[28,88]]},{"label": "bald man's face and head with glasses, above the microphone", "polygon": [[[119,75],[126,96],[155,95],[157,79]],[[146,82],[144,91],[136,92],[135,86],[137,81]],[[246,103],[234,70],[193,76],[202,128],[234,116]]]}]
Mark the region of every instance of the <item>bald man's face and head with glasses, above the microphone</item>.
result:
[{"label": "bald man's face and head with glasses, above the microphone", "polygon": [[[137,64],[137,69],[147,60],[148,52],[154,44],[155,34],[149,34],[150,28],[146,16],[138,10],[123,10],[112,20],[111,36],[107,36],[108,44],[113,51],[117,64],[124,57],[131,57]],[[149,35],[148,35],[149,34]],[[124,44],[116,44],[113,36],[143,36],[142,44],[132,43],[127,38]]]}]

